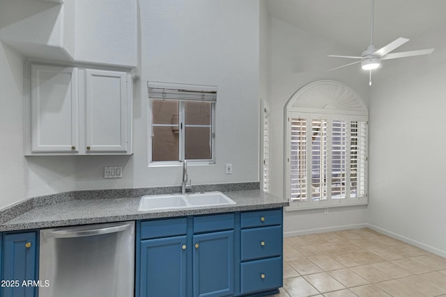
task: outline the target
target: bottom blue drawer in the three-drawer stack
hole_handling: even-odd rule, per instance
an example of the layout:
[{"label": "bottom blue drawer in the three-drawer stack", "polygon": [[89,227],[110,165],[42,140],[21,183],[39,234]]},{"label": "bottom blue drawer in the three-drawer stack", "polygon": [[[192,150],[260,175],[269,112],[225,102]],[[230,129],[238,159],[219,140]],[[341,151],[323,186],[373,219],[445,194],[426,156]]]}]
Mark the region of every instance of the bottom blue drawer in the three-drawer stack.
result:
[{"label": "bottom blue drawer in the three-drawer stack", "polygon": [[240,278],[241,294],[282,287],[282,257],[242,263]]}]

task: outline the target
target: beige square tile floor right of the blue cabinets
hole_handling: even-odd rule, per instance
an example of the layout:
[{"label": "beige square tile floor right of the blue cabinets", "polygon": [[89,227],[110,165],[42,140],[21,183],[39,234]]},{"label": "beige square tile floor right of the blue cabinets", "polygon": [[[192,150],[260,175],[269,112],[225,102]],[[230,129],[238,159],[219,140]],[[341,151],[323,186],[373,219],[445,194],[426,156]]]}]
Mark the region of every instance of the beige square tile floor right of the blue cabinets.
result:
[{"label": "beige square tile floor right of the blue cabinets", "polygon": [[285,238],[275,296],[446,296],[446,259],[367,228]]}]

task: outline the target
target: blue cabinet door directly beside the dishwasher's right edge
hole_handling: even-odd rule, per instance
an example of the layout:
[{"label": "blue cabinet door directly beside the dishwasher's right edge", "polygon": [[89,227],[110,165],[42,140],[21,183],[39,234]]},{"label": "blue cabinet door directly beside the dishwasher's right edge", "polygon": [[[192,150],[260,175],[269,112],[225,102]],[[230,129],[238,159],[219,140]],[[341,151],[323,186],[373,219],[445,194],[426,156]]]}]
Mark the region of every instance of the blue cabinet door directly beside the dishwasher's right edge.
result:
[{"label": "blue cabinet door directly beside the dishwasher's right edge", "polygon": [[186,238],[141,241],[139,297],[186,296]]}]

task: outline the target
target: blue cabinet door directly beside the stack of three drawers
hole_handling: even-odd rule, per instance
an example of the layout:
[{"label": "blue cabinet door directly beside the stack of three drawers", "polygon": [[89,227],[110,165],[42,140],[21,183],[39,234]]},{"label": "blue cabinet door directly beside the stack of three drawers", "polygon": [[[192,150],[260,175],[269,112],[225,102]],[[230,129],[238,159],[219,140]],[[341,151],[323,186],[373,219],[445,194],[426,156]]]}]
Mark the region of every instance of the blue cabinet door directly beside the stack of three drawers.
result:
[{"label": "blue cabinet door directly beside the stack of three drawers", "polygon": [[234,294],[233,242],[233,230],[194,235],[194,297]]}]

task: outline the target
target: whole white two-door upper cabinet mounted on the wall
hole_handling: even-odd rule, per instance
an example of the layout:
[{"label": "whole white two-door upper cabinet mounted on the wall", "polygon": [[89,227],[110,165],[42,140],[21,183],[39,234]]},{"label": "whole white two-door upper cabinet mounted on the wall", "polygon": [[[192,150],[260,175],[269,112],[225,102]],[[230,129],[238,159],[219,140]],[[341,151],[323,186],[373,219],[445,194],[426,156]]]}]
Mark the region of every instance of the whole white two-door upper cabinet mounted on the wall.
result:
[{"label": "whole white two-door upper cabinet mounted on the wall", "polygon": [[130,72],[28,69],[26,155],[132,154]]}]

